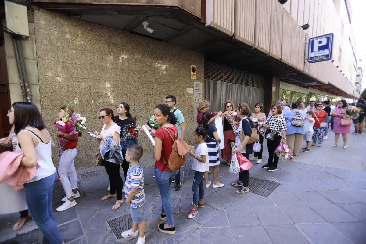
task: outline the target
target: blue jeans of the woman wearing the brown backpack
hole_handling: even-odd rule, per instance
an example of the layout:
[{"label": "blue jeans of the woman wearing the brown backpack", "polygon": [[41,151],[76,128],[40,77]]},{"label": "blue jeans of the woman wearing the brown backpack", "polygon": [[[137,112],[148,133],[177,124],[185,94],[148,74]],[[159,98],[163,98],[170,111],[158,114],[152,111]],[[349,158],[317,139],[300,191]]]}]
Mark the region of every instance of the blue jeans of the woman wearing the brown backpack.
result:
[{"label": "blue jeans of the woman wearing the brown backpack", "polygon": [[156,183],[158,183],[158,188],[160,191],[161,202],[161,213],[165,213],[167,216],[167,222],[169,226],[174,225],[173,220],[173,209],[172,209],[172,202],[170,200],[170,184],[174,176],[178,173],[176,171],[160,171],[158,168],[155,167],[155,179]]}]

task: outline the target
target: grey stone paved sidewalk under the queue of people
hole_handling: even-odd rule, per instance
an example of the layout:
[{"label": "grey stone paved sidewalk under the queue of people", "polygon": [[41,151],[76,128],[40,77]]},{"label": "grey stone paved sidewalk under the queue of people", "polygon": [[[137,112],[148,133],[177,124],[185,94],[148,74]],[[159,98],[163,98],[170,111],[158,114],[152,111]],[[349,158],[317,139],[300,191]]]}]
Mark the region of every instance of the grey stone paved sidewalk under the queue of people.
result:
[{"label": "grey stone paved sidewalk under the queue of people", "polygon": [[[251,177],[280,183],[268,197],[253,192],[236,194],[237,188],[229,183],[238,179],[238,176],[229,173],[225,163],[221,164],[219,181],[225,187],[205,188],[205,207],[199,209],[194,219],[187,218],[193,198],[193,175],[184,172],[182,190],[174,191],[172,187],[171,191],[176,225],[174,235],[160,233],[156,228],[162,222],[159,218],[161,199],[153,176],[153,166],[145,167],[146,243],[364,244],[366,172],[345,168],[358,167],[362,170],[365,167],[363,144],[366,135],[350,135],[348,149],[331,147],[333,135],[329,133],[330,139],[324,141],[323,147],[313,147],[310,153],[295,157],[294,162],[279,164],[276,172],[268,172],[261,165],[253,163]],[[145,155],[145,159],[148,157],[153,160],[152,155]],[[267,158],[263,161],[266,162]],[[80,173],[90,171],[94,171],[96,176],[81,179]],[[107,224],[108,220],[129,213],[129,207],[123,204],[119,210],[112,211],[115,199],[100,200],[108,193],[104,168],[81,170],[78,176],[87,196],[76,199],[76,207],[55,212],[65,243],[135,243],[136,239],[117,240]],[[18,220],[18,215],[0,216],[0,243],[15,237],[16,233],[11,228]],[[36,229],[36,226],[29,221],[19,233],[32,229]]]}]

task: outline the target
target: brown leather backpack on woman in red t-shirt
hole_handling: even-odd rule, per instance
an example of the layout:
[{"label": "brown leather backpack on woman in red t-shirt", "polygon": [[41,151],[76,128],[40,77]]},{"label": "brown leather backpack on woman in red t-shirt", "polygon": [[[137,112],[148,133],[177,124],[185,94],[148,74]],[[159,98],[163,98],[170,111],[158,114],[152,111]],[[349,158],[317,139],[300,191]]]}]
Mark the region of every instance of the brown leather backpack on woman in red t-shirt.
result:
[{"label": "brown leather backpack on woman in red t-shirt", "polygon": [[169,129],[164,127],[161,127],[161,129],[165,129],[173,140],[172,153],[170,154],[168,161],[165,158],[163,151],[161,151],[163,162],[171,171],[176,171],[182,168],[186,162],[191,146],[184,142],[184,140],[180,139],[178,137],[178,133],[174,135],[174,139]]}]

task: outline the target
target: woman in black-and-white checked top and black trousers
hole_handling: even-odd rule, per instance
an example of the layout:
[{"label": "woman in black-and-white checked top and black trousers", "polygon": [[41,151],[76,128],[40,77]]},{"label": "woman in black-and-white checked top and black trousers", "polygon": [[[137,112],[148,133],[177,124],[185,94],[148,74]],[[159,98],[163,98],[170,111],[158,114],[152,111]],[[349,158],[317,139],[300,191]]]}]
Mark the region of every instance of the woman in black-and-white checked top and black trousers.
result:
[{"label": "woman in black-and-white checked top and black trousers", "polygon": [[279,158],[275,154],[275,150],[281,143],[281,140],[283,143],[286,143],[287,126],[285,118],[281,115],[282,114],[281,105],[279,104],[272,105],[271,111],[272,115],[268,116],[266,122],[262,126],[265,129],[272,129],[273,131],[277,131],[278,133],[276,134],[275,139],[267,140],[268,164],[263,165],[262,168],[265,168],[268,171],[276,171]]}]

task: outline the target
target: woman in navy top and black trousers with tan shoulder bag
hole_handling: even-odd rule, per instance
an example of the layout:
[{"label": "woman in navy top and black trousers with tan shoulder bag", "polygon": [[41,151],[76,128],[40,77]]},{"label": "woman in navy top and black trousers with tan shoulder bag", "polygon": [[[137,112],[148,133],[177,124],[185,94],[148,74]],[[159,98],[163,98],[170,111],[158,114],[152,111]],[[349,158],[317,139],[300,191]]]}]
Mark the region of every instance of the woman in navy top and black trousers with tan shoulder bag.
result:
[{"label": "woman in navy top and black trousers with tan shoulder bag", "polygon": [[[236,131],[235,136],[235,145],[236,148],[234,153],[240,152],[247,159],[249,158],[249,154],[253,153],[254,143],[248,144],[251,137],[251,128],[254,128],[254,123],[248,117],[250,114],[250,108],[248,104],[245,102],[238,104],[237,108],[238,115],[242,120],[240,121],[238,130]],[[243,131],[244,139],[240,141],[239,132]],[[235,187],[240,187],[240,189],[236,190],[236,193],[243,194],[249,192],[249,169],[241,171],[239,173],[239,180],[232,183]]]}]

